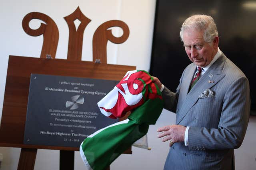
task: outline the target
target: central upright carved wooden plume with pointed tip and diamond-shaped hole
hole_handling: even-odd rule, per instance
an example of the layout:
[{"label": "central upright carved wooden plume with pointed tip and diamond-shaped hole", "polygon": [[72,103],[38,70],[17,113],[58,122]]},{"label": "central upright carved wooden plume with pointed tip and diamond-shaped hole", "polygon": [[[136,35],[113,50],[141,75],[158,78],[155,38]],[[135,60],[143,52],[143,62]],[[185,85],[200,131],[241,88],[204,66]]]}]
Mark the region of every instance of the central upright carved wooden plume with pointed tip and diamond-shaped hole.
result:
[{"label": "central upright carved wooden plume with pointed tip and diamond-shaped hole", "polygon": [[[64,17],[64,19],[68,23],[69,29],[67,59],[81,61],[84,29],[91,20],[84,16],[84,14],[80,11],[79,7],[77,7],[72,14]],[[74,24],[74,21],[76,19],[78,19],[81,22],[77,30]]]}]

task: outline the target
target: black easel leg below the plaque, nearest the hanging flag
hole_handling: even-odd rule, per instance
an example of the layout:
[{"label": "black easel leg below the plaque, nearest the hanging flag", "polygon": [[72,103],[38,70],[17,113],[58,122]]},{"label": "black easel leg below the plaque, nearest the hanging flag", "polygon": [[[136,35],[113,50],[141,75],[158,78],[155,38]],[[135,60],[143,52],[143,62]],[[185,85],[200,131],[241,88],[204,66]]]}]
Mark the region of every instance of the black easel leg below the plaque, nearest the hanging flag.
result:
[{"label": "black easel leg below the plaque, nearest the hanging flag", "polygon": [[74,170],[74,151],[60,150],[60,170]]}]

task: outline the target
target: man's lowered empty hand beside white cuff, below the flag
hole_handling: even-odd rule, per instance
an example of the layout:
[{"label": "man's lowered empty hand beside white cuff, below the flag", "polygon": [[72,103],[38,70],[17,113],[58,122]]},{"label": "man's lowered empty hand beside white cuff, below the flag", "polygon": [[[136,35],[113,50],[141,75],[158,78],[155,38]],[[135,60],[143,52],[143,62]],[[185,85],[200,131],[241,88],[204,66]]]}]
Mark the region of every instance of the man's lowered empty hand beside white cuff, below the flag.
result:
[{"label": "man's lowered empty hand beside white cuff, below the flag", "polygon": [[172,140],[172,143],[169,144],[171,147],[173,143],[184,142],[186,127],[182,125],[169,125],[160,127],[157,131],[162,132],[157,137],[164,137],[162,139],[163,142]]}]

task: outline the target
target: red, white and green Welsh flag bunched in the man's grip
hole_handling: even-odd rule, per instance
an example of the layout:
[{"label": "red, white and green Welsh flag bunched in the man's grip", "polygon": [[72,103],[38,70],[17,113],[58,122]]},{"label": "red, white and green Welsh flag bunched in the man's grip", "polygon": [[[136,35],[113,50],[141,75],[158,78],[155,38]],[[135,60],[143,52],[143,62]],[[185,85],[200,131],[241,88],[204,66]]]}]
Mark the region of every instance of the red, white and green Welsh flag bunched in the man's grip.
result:
[{"label": "red, white and green Welsh flag bunched in the man's grip", "polygon": [[128,119],[109,125],[88,136],[80,154],[89,170],[103,170],[135,141],[146,135],[163,109],[163,99],[153,78],[143,70],[128,71],[100,102],[100,111],[110,117]]}]

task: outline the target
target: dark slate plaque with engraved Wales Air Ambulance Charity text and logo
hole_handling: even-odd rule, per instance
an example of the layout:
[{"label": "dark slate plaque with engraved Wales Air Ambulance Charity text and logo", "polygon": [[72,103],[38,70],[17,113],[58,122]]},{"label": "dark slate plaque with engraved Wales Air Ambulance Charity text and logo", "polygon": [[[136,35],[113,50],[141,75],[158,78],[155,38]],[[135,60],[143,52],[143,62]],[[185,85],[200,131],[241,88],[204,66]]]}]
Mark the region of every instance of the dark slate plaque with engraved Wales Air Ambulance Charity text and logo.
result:
[{"label": "dark slate plaque with engraved Wales Air Ambulance Charity text and logo", "polygon": [[31,74],[24,144],[79,147],[90,134],[118,119],[97,102],[118,81]]}]

